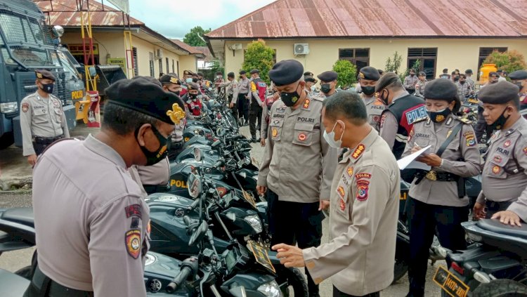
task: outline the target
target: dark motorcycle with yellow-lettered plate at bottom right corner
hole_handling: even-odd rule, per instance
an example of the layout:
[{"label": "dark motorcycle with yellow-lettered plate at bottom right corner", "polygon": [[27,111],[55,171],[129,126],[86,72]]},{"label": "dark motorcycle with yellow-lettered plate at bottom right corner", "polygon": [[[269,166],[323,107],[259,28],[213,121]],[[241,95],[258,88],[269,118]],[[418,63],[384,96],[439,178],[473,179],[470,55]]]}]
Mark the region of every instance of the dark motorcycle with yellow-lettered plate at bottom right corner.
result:
[{"label": "dark motorcycle with yellow-lettered plate at bottom right corner", "polygon": [[527,296],[527,225],[481,219],[461,224],[474,242],[465,251],[441,249],[450,268],[439,267],[434,282],[443,296]]}]

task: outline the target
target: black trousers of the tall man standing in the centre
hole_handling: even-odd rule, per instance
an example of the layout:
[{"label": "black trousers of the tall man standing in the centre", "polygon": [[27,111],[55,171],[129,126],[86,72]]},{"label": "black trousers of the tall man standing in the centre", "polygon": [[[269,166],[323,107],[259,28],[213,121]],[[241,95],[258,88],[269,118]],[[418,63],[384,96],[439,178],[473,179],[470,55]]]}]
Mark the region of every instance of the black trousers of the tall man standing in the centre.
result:
[{"label": "black trousers of the tall man standing in the centre", "polygon": [[[269,230],[271,246],[274,244],[298,243],[300,249],[320,246],[323,213],[319,203],[279,201],[275,192],[267,191]],[[318,296],[318,285],[313,282],[307,268],[309,296]]]}]

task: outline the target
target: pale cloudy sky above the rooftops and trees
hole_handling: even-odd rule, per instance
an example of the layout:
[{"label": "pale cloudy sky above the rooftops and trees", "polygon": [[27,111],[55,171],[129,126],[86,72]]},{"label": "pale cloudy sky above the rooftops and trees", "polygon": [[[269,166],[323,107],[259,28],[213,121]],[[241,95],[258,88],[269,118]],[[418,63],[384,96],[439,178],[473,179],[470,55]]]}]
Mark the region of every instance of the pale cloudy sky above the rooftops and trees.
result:
[{"label": "pale cloudy sky above the rooftops and trees", "polygon": [[[100,0],[99,0],[100,1]],[[129,0],[130,15],[165,37],[183,39],[190,29],[216,29],[275,0]],[[108,0],[104,1],[108,4]]]}]

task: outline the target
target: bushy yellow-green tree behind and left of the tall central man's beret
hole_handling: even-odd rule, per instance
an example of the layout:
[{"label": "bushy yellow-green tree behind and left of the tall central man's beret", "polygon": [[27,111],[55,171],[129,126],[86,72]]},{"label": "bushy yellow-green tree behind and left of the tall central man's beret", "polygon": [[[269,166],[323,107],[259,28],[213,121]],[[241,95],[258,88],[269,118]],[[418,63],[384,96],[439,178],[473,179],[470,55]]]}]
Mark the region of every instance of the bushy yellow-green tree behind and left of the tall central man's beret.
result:
[{"label": "bushy yellow-green tree behind and left of the tall central man's beret", "polygon": [[249,72],[253,69],[260,71],[260,78],[270,84],[268,72],[274,64],[275,51],[266,46],[266,41],[258,39],[247,45],[243,58],[242,69]]}]

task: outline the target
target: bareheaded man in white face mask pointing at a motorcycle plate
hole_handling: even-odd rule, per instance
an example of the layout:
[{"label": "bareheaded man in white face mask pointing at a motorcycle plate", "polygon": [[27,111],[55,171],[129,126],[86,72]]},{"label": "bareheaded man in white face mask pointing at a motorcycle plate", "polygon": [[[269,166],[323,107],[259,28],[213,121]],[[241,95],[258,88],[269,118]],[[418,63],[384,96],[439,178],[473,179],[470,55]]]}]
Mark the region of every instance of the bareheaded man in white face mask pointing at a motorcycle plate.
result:
[{"label": "bareheaded man in white face mask pointing at a motorcycle plate", "polygon": [[397,162],[386,141],[369,125],[357,93],[337,93],[324,106],[327,143],[349,148],[337,164],[331,187],[331,241],[304,250],[286,244],[273,249],[286,267],[305,265],[315,283],[332,277],[333,296],[380,296],[379,291],[393,280],[400,190]]}]

